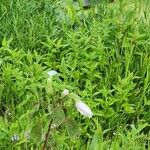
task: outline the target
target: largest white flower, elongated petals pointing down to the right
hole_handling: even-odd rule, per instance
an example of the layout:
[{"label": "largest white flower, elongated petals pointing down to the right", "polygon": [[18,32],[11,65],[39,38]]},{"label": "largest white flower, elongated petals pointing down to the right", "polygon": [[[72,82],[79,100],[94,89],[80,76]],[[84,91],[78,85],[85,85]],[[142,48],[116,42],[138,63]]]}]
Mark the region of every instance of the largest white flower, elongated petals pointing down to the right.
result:
[{"label": "largest white flower, elongated petals pointing down to the right", "polygon": [[85,117],[91,118],[93,116],[93,113],[89,106],[84,104],[82,101],[77,101],[75,104],[77,110],[84,115]]}]

